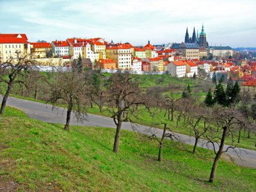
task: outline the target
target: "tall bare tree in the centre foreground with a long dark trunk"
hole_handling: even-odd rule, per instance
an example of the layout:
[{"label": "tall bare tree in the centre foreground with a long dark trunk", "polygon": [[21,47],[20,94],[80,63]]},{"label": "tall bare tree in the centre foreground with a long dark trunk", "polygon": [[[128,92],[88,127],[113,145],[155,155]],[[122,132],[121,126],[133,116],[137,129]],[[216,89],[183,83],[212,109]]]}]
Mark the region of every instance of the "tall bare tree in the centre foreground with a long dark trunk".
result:
[{"label": "tall bare tree in the centre foreground with a long dark trunk", "polygon": [[116,125],[115,142],[113,152],[117,153],[119,148],[120,133],[123,122],[123,115],[126,113],[126,118],[131,122],[131,118],[134,114],[133,106],[144,104],[144,98],[141,97],[141,89],[139,84],[132,81],[132,77],[129,74],[122,74],[117,72],[112,74],[108,79],[107,86],[108,95],[108,111],[111,113]]}]

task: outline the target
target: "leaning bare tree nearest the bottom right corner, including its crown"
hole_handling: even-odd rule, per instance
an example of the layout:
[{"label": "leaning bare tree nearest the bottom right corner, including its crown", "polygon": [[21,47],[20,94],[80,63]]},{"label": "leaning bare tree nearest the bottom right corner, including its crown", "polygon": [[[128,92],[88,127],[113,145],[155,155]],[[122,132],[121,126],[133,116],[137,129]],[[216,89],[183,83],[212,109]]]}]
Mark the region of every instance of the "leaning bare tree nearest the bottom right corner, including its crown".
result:
[{"label": "leaning bare tree nearest the bottom right corner, including its crown", "polygon": [[[215,114],[214,118],[212,118],[212,123],[219,124],[221,127],[221,136],[216,136],[216,133],[212,132],[212,137],[210,138],[207,136],[209,143],[212,143],[212,147],[214,148],[214,153],[216,154],[214,158],[214,162],[212,164],[211,175],[209,178],[209,182],[214,181],[216,168],[218,166],[218,161],[223,153],[227,152],[229,148],[235,148],[232,146],[227,147],[224,150],[225,141],[228,136],[232,138],[234,141],[234,132],[236,132],[234,125],[244,124],[245,120],[244,117],[239,111],[235,108],[225,108],[221,109],[218,108],[216,111],[213,112]],[[216,147],[218,146],[218,147]]]}]

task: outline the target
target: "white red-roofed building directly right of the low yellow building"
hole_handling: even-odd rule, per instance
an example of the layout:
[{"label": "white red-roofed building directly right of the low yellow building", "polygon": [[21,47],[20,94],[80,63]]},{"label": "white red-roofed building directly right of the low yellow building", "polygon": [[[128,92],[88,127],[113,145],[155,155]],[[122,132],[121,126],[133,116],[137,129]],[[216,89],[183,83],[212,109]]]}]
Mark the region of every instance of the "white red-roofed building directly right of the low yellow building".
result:
[{"label": "white red-roofed building directly right of the low yellow building", "polygon": [[54,56],[68,56],[69,55],[69,45],[66,41],[52,41],[52,54]]}]

